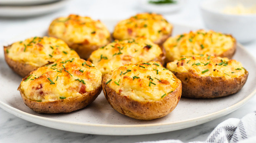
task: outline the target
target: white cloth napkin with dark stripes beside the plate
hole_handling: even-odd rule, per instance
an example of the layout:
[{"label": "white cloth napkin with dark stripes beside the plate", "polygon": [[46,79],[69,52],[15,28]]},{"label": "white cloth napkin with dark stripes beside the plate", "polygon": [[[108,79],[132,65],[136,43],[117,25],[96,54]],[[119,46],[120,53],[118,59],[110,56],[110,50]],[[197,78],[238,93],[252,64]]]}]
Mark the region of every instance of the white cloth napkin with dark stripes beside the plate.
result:
[{"label": "white cloth napkin with dark stripes beside the plate", "polygon": [[[160,140],[143,143],[183,143],[180,140]],[[189,143],[256,143],[256,111],[242,119],[230,118],[220,123],[206,141]]]}]

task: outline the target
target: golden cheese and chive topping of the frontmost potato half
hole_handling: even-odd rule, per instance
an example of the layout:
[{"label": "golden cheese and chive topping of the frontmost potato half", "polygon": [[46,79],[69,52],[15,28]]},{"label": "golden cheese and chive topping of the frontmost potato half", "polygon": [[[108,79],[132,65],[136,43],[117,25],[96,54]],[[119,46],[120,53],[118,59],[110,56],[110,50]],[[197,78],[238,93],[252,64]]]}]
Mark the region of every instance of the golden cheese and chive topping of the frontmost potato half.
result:
[{"label": "golden cheese and chive topping of the frontmost potato half", "polygon": [[153,61],[124,65],[109,74],[110,88],[140,102],[161,100],[181,83],[171,71],[164,70],[160,62]]}]

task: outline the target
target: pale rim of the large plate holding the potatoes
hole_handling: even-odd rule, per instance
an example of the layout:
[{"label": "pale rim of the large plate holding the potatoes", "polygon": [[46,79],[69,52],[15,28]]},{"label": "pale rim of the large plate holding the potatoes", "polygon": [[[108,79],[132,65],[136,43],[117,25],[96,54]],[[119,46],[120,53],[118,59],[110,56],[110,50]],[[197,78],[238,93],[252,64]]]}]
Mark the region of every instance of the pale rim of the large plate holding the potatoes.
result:
[{"label": "pale rim of the large plate holding the potatoes", "polygon": [[[179,24],[180,25],[180,24]],[[185,26],[185,25],[181,25]],[[188,27],[188,26],[186,26]],[[195,27],[193,27],[194,29]],[[44,30],[45,31],[45,30]],[[9,40],[11,41],[11,40]],[[237,48],[241,48],[245,53],[252,59],[252,64],[256,65],[256,59],[240,44],[237,43]],[[250,73],[253,74],[253,73]],[[249,101],[256,93],[255,89],[247,95],[243,100],[235,103],[225,109],[219,110],[214,113],[210,113],[204,116],[199,116],[192,119],[186,119],[181,121],[174,121],[168,123],[151,123],[151,124],[139,124],[139,125],[110,125],[110,124],[95,124],[95,123],[81,123],[81,122],[70,122],[65,120],[51,119],[46,117],[40,117],[21,111],[0,100],[0,107],[7,112],[27,121],[43,125],[50,128],[59,130],[65,130],[70,132],[85,133],[85,134],[96,134],[96,135],[145,135],[163,133],[169,131],[180,130],[184,128],[193,127],[199,124],[203,124],[213,119],[223,117],[245,103]],[[65,125],[65,127],[63,127]]]}]

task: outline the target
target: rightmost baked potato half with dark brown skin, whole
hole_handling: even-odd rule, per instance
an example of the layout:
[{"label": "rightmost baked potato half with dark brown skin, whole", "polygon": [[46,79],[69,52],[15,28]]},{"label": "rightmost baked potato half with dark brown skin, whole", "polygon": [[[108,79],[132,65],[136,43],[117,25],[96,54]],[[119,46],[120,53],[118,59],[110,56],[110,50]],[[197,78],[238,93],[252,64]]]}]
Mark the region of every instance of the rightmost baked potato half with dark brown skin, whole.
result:
[{"label": "rightmost baked potato half with dark brown skin, whole", "polygon": [[181,56],[167,63],[182,83],[182,97],[218,98],[237,93],[248,77],[236,60],[216,56]]}]

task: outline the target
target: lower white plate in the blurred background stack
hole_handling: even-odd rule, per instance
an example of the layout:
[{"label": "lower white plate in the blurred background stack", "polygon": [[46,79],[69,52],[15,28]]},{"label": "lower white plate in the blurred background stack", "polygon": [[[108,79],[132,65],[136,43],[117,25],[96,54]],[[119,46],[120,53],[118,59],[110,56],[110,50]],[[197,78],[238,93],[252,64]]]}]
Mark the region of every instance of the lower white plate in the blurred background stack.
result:
[{"label": "lower white plate in the blurred background stack", "polygon": [[28,17],[51,13],[66,6],[69,0],[35,6],[0,6],[1,17]]}]

